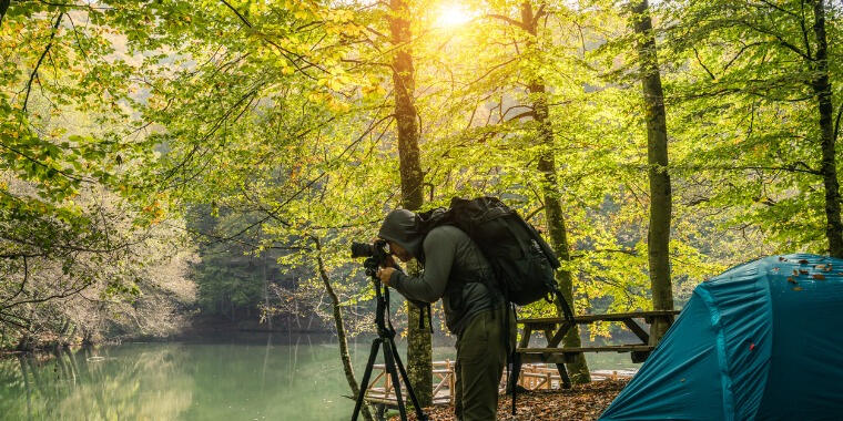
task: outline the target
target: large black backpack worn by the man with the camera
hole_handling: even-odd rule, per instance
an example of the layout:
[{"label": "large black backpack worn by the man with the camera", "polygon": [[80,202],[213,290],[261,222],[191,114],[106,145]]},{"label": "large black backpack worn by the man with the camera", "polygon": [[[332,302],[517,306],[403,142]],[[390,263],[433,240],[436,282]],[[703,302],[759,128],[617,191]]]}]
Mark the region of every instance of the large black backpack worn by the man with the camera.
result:
[{"label": "large black backpack worn by the man with the camera", "polygon": [[573,318],[553,277],[560,266],[553,250],[532,225],[497,197],[454,197],[449,208],[420,213],[418,218],[424,233],[441,225],[465,232],[489,260],[496,286],[508,301],[525,306],[558,297],[565,317]]}]

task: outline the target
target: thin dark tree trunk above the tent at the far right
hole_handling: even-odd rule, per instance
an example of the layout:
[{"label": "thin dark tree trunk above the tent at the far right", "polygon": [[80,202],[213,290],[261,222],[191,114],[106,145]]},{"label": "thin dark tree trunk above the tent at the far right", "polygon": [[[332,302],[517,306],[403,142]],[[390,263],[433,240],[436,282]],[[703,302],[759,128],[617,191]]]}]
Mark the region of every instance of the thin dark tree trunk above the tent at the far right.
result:
[{"label": "thin dark tree trunk above the tent at the far right", "polygon": [[829,254],[843,258],[843,224],[840,220],[840,184],[835,157],[835,133],[832,122],[832,94],[829,80],[829,43],[825,38],[825,4],[814,0],[814,37],[816,37],[816,60],[812,71],[816,75],[811,85],[816,95],[820,112],[820,136],[822,144],[823,184],[825,186],[825,236],[829,238]]}]

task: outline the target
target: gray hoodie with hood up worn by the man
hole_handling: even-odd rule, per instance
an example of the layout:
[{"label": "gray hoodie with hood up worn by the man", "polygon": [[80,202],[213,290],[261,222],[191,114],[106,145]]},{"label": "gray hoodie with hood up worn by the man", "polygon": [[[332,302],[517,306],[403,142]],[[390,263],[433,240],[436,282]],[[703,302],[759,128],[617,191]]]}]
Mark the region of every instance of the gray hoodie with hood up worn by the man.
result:
[{"label": "gray hoodie with hood up worn by the man", "polygon": [[396,209],[384,219],[378,237],[397,243],[424,265],[418,276],[395,271],[389,285],[410,300],[441,298],[445,324],[453,333],[460,335],[475,315],[502,304],[502,296],[485,285],[494,280],[488,260],[459,228],[444,225],[425,236],[416,214]]}]

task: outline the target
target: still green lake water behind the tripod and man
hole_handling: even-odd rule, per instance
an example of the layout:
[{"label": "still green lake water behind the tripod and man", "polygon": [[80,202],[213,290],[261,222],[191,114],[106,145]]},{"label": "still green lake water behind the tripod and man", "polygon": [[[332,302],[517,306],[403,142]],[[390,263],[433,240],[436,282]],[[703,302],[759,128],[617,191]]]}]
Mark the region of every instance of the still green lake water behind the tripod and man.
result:
[{"label": "still green lake water behind the tripod and man", "polygon": [[[453,340],[441,341],[434,359],[453,360]],[[369,345],[349,345],[358,379]],[[597,356],[592,370],[638,366],[626,355]],[[348,420],[347,394],[331,337],[125,343],[0,359],[0,420]]]}]

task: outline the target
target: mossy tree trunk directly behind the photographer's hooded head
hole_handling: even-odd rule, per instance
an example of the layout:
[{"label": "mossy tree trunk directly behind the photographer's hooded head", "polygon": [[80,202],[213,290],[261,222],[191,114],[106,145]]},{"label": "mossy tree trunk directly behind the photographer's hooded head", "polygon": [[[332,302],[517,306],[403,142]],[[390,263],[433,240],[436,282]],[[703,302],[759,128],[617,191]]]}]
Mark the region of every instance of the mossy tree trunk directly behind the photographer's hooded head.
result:
[{"label": "mossy tree trunk directly behind the photographer's hooded head", "polygon": [[[395,91],[395,120],[398,127],[398,157],[400,160],[402,206],[409,210],[422,207],[422,163],[418,151],[418,114],[414,105],[415,70],[409,6],[407,0],[390,0],[389,31],[395,58],[393,85]],[[410,275],[417,265],[410,265]],[[428,327],[419,329],[420,311],[407,301],[407,376],[422,407],[433,404],[433,346]]]}]

